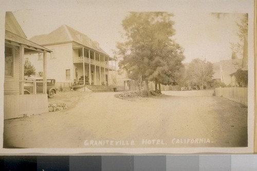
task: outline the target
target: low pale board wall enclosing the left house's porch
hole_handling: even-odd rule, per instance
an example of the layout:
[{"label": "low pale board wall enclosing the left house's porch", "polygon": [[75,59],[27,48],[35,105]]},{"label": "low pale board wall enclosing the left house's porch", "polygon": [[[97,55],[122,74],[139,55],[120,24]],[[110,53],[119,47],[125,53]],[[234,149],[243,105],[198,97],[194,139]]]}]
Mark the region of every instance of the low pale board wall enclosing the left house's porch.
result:
[{"label": "low pale board wall enclosing the left house's porch", "polygon": [[20,118],[48,112],[47,94],[17,94],[4,96],[4,119]]}]

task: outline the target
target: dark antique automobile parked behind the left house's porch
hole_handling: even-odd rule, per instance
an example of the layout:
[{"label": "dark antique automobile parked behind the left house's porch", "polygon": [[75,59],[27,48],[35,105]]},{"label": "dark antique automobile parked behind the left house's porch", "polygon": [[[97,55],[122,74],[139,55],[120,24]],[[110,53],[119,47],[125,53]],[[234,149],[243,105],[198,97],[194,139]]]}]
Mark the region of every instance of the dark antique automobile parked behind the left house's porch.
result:
[{"label": "dark antique automobile parked behind the left house's porch", "polygon": [[[43,78],[41,77],[31,77],[26,78],[27,82],[24,83],[24,94],[31,94],[33,93],[33,82],[35,81],[36,85],[36,93],[43,93]],[[40,81],[40,82],[37,82]],[[53,98],[54,94],[56,94],[56,80],[54,79],[47,79],[47,95],[48,98]]]}]

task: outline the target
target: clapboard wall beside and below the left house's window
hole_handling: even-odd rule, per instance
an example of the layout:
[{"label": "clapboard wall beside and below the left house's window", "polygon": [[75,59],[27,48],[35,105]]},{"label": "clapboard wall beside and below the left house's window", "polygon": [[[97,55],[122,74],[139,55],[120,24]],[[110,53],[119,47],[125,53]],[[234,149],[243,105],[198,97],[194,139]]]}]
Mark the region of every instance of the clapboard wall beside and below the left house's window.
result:
[{"label": "clapboard wall beside and below the left house's window", "polygon": [[19,94],[20,91],[20,52],[19,47],[13,46],[13,77],[5,77],[4,94]]}]

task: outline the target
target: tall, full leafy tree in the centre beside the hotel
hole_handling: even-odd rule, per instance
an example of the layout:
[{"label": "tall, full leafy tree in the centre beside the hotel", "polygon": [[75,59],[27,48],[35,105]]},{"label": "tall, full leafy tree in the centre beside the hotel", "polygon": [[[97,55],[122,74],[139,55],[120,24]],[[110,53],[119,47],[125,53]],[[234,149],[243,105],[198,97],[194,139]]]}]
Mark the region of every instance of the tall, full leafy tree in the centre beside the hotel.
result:
[{"label": "tall, full leafy tree in the centre beside the hotel", "polygon": [[[119,63],[128,77],[143,80],[149,94],[148,81],[170,84],[179,69],[182,48],[172,41],[174,22],[167,12],[130,12],[122,21],[125,42],[117,44]],[[176,65],[177,64],[177,65]]]}]

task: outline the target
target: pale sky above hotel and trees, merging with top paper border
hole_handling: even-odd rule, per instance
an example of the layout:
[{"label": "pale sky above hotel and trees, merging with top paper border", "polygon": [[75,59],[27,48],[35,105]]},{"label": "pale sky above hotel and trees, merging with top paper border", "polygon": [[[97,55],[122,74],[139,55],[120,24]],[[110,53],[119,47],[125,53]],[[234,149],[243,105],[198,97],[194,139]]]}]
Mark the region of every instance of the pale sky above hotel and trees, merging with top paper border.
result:
[{"label": "pale sky above hotel and trees, merging with top paper border", "polygon": [[[238,28],[235,22],[239,22],[244,13],[240,7],[232,11],[221,10],[215,6],[208,9],[206,7],[210,6],[203,1],[199,1],[199,4],[147,1],[148,6],[145,6],[146,1],[125,3],[124,1],[75,0],[62,1],[63,3],[59,4],[56,2],[60,1],[53,1],[50,6],[40,1],[34,5],[24,3],[20,8],[12,10],[28,39],[34,35],[50,33],[66,24],[99,42],[100,47],[113,56],[116,43],[123,41],[121,23],[128,11],[167,11],[174,14],[171,20],[175,22],[176,34],[172,38],[185,49],[184,62],[191,62],[195,58],[210,62],[231,59],[230,43],[238,42],[236,35]],[[226,1],[222,2],[223,6],[229,7]],[[243,8],[242,4],[238,4]],[[196,5],[197,10],[195,10]],[[228,14],[218,19],[210,12]]]}]

